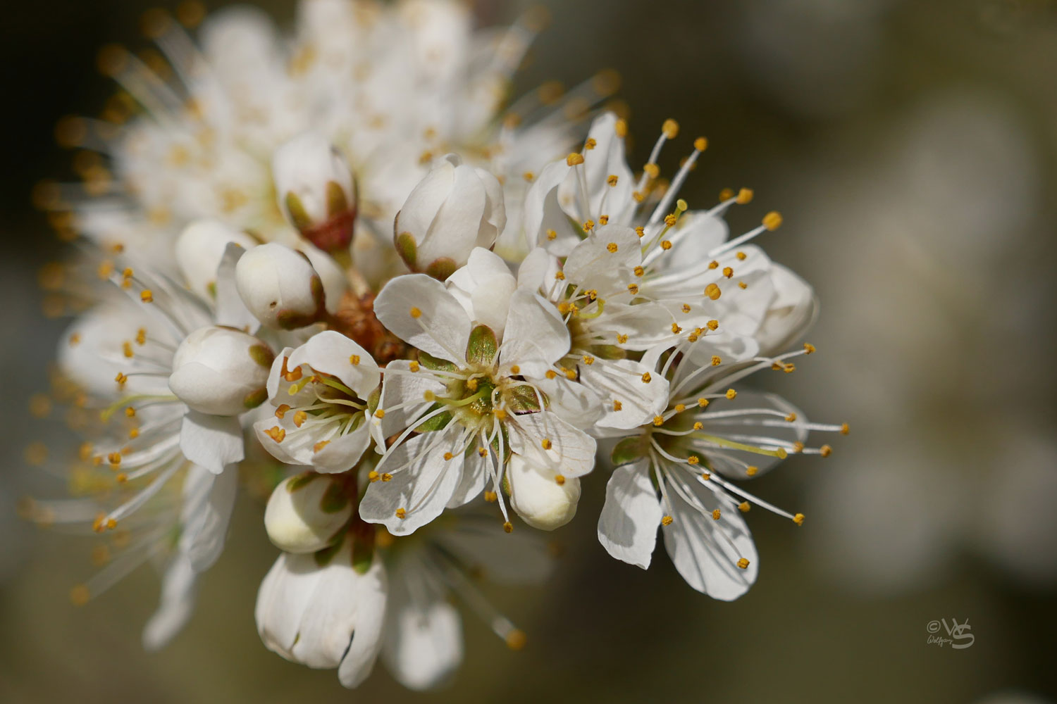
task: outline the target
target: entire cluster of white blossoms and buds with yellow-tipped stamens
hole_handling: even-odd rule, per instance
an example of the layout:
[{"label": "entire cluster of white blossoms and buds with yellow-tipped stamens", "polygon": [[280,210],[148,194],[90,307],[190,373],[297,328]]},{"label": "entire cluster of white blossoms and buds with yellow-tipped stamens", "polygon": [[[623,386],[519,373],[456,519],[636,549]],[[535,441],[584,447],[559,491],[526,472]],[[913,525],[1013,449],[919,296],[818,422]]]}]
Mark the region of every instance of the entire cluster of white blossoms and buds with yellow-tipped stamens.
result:
[{"label": "entire cluster of white blossoms and buds with yellow-tipped stamens", "polygon": [[530,24],[305,0],[293,37],[243,8],[196,43],[152,13],[163,54],[104,53],[116,114],[60,134],[110,161],[80,152],[82,191],[42,194],[86,242],[60,278],[90,307],[59,364],[101,419],[80,423],[78,495],[27,506],[110,537],[75,601],[159,562],[145,643],[164,645],[241,481],[267,496],[281,551],[257,597],[264,645],[349,687],[381,653],[425,688],[462,659],[449,595],[523,645],[471,575],[545,576],[540,532],[591,486],[613,557],[648,567],[660,528],[719,600],[756,579],[745,512],[803,521],[741,488],[787,454],[829,455],[811,432],[848,431],[740,387],[814,350],[784,351],[812,289],[755,243],[781,216],[730,236],[748,189],[691,210],[678,193],[707,142],[662,179],[673,120],[634,172],[626,121],[594,107],[608,76],[501,112]]}]

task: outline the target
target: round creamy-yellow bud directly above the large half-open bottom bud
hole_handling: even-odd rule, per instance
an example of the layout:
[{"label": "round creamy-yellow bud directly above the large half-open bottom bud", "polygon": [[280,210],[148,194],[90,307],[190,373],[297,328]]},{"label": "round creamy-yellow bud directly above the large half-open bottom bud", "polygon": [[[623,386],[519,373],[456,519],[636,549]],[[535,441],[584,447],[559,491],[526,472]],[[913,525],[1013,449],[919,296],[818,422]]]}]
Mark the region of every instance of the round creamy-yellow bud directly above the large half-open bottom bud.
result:
[{"label": "round creamy-yellow bud directly above the large half-open bottom bud", "polygon": [[272,492],[264,529],[280,550],[316,552],[330,545],[351,515],[352,502],[340,482],[307,472],[284,479]]}]

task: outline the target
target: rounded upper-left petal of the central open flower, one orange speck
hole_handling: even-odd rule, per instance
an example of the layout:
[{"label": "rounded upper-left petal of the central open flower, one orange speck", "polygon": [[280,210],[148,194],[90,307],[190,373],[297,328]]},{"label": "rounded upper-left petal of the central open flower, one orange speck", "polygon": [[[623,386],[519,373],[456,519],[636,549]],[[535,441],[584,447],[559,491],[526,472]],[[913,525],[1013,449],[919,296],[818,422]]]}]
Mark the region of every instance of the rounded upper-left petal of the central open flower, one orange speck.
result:
[{"label": "rounded upper-left petal of the central open flower, one orange speck", "polygon": [[374,299],[374,315],[409,345],[459,366],[465,365],[469,317],[435,279],[424,273],[396,277]]}]

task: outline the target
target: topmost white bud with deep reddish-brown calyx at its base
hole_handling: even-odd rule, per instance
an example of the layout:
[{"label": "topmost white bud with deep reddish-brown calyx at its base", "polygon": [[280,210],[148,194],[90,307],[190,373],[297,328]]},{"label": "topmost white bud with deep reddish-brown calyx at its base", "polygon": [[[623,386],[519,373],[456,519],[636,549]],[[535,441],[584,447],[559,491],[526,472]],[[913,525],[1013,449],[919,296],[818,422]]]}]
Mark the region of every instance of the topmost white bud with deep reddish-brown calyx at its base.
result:
[{"label": "topmost white bud with deep reddish-brown calyx at its base", "polygon": [[290,224],[326,252],[347,251],[356,220],[356,183],[337,149],[305,132],[275,151],[272,174],[279,209]]}]

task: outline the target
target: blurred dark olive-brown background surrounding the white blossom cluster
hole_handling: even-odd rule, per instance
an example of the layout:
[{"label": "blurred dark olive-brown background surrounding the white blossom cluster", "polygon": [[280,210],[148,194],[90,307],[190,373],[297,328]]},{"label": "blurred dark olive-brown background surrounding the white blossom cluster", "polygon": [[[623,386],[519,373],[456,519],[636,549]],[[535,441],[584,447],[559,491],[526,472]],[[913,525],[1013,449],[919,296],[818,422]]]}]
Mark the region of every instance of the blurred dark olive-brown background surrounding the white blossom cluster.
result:
[{"label": "blurred dark olive-brown background surrounding the white blossom cluster", "polygon": [[[27,405],[64,324],[41,313],[38,271],[63,246],[31,189],[66,173],[55,120],[101,106],[96,47],[140,45],[148,4],[19,0],[0,23],[0,701],[1057,700],[1057,3],[543,4],[553,22],[516,92],[614,68],[633,167],[675,117],[710,140],[691,206],[750,186],[785,216],[762,244],[816,286],[819,351],[764,381],[809,417],[852,426],[832,457],[791,458],[753,487],[804,526],[753,512],[760,582],[712,602],[662,555],[643,572],[605,554],[599,481],[555,535],[561,565],[545,588],[488,592],[528,632],[525,649],[467,615],[463,669],[427,695],[381,667],[350,692],[265,650],[253,605],[275,551],[251,499],[163,652],[140,649],[157,594],[149,568],[71,606],[94,569],[89,541],[15,511],[20,495],[55,491],[31,443],[60,442],[57,419]],[[483,23],[525,6],[477,3]],[[735,229],[757,215],[736,211]],[[939,619],[968,619],[972,647],[928,645]]]}]

